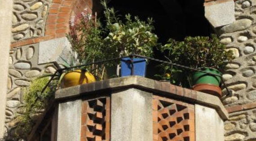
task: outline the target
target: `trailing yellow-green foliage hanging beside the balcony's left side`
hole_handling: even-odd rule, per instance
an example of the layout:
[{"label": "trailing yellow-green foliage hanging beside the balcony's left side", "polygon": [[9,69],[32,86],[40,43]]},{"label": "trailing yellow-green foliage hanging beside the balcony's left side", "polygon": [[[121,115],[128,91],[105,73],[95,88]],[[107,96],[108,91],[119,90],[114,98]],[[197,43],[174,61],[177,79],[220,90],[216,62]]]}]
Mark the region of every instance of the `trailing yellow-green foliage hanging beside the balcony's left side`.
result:
[{"label": "trailing yellow-green foliage hanging beside the balcony's left side", "polygon": [[49,77],[35,79],[32,81],[29,88],[24,88],[24,106],[22,107],[22,114],[17,117],[19,123],[15,130],[17,137],[26,138],[26,135],[31,131],[34,125],[32,120],[33,116],[44,111],[47,106],[47,100],[55,93],[57,87],[55,81],[52,81],[49,87],[45,89],[44,93],[41,93],[48,81]]}]

